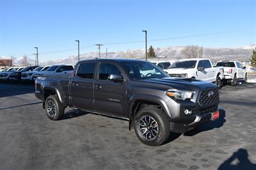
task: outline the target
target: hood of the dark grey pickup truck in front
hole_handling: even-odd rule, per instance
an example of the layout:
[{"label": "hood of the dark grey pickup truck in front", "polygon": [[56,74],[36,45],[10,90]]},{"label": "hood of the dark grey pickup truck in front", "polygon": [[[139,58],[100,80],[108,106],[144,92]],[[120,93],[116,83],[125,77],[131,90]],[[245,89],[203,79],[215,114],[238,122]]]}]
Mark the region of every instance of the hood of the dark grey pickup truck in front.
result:
[{"label": "hood of the dark grey pickup truck in front", "polygon": [[[190,78],[157,78],[157,79],[144,79],[141,82],[147,82],[148,86],[154,84],[152,87],[167,89],[180,89],[185,91],[201,90],[205,88],[216,88],[216,85],[211,82],[198,81]],[[158,87],[157,87],[158,84]],[[146,84],[145,84],[146,85]],[[146,85],[147,86],[147,85]]]}]

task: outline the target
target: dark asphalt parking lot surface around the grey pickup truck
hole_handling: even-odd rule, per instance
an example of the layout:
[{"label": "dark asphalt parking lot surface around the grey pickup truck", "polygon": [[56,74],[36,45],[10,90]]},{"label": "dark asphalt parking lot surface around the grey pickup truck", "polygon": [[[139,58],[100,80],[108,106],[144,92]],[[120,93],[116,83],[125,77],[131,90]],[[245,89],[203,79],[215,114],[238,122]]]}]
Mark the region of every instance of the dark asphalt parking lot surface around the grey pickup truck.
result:
[{"label": "dark asphalt parking lot surface around the grey pickup truck", "polygon": [[51,121],[33,90],[0,82],[0,169],[256,169],[256,83],[223,87],[225,118],[158,147],[124,120],[69,109]]}]

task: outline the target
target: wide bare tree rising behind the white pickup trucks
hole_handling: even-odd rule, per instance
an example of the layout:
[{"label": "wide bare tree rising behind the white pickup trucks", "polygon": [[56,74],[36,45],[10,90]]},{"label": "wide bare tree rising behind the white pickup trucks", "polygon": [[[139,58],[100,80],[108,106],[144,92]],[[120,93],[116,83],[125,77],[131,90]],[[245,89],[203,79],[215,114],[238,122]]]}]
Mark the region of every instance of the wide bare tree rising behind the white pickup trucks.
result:
[{"label": "wide bare tree rising behind the white pickup trucks", "polygon": [[181,51],[181,54],[183,58],[202,58],[204,54],[204,48],[195,45],[189,45]]}]

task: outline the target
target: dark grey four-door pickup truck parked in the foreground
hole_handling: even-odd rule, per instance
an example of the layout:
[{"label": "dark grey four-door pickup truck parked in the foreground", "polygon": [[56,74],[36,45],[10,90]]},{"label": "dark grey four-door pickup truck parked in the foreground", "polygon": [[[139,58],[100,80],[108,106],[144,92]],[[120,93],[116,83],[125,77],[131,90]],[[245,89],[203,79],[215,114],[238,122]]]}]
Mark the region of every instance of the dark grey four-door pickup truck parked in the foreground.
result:
[{"label": "dark grey four-door pickup truck parked in the foreground", "polygon": [[67,75],[35,81],[35,95],[51,120],[65,107],[129,120],[144,144],[163,144],[170,131],[184,133],[219,118],[218,88],[211,82],[170,78],[161,68],[134,59],[79,61]]}]

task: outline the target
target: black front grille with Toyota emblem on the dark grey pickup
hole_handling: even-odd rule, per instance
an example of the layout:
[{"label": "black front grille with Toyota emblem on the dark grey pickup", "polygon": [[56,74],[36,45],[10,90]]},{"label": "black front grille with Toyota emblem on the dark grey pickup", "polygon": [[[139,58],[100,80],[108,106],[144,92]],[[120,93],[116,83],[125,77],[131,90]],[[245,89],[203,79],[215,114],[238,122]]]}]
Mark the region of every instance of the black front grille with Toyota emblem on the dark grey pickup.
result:
[{"label": "black front grille with Toyota emblem on the dark grey pickup", "polygon": [[216,105],[220,102],[218,88],[203,89],[200,93],[199,104],[202,106]]}]

